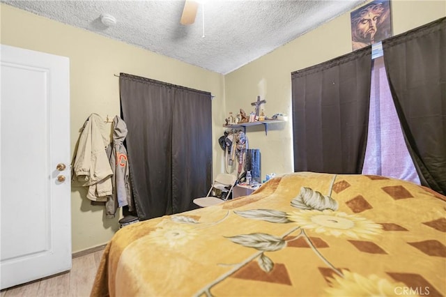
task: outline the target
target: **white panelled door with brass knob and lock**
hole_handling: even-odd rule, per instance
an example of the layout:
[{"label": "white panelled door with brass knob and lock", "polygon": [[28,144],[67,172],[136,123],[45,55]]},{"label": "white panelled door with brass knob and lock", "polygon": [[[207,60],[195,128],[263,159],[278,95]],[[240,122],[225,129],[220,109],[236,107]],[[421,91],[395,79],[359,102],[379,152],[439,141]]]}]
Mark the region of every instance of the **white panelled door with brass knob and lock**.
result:
[{"label": "white panelled door with brass knob and lock", "polygon": [[0,55],[4,289],[71,268],[70,61],[6,45]]}]

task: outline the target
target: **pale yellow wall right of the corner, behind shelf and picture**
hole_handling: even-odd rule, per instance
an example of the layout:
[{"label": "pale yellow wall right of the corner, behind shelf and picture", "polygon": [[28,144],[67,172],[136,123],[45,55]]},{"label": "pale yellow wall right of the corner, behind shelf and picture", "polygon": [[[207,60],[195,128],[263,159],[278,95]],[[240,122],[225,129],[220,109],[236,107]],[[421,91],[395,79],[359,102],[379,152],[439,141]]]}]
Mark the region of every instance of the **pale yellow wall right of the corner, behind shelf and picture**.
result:
[{"label": "pale yellow wall right of the corner, behind shelf and picture", "polygon": [[[394,35],[446,15],[446,1],[391,1]],[[350,13],[279,47],[260,59],[224,77],[226,114],[243,108],[249,114],[250,102],[260,95],[266,99],[265,112],[289,114],[285,125],[265,132],[247,128],[250,148],[261,149],[262,176],[270,172],[293,171],[291,119],[291,72],[351,52]]]}]

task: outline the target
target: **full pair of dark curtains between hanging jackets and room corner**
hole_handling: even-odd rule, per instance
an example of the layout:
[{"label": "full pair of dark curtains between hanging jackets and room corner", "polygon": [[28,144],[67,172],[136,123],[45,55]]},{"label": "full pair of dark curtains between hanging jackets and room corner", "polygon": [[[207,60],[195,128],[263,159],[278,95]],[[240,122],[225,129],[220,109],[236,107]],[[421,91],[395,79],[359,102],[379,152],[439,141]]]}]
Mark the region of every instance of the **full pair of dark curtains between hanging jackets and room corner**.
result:
[{"label": "full pair of dark curtains between hanging jackets and room corner", "polygon": [[212,176],[210,93],[125,73],[119,88],[139,220],[194,208]]}]

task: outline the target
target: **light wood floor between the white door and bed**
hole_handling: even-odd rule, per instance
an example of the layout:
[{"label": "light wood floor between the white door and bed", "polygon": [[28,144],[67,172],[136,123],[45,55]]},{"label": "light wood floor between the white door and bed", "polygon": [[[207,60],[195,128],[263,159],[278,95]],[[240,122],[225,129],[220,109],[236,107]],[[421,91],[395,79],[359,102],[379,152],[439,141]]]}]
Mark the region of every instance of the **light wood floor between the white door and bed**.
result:
[{"label": "light wood floor between the white door and bed", "polygon": [[102,252],[103,250],[99,250],[75,257],[72,259],[72,268],[68,273],[4,289],[0,292],[0,297],[90,296]]}]

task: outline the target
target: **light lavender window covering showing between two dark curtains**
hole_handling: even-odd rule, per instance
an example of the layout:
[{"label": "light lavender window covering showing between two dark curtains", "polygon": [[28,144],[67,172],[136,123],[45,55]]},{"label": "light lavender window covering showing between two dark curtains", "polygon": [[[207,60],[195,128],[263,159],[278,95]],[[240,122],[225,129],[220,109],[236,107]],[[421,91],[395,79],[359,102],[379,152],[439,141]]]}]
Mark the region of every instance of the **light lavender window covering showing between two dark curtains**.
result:
[{"label": "light lavender window covering showing between two dark curtains", "polygon": [[399,178],[420,184],[399,125],[382,56],[371,69],[369,134],[362,174]]}]

